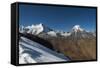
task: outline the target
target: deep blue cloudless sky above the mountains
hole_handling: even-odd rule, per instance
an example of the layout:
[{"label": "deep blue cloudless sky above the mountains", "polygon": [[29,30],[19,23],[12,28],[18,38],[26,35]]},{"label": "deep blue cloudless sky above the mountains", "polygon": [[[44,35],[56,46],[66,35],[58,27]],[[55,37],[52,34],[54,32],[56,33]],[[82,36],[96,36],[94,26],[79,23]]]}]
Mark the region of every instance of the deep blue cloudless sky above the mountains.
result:
[{"label": "deep blue cloudless sky above the mountains", "polygon": [[61,31],[70,31],[74,25],[80,25],[88,31],[95,31],[96,9],[19,5],[19,25],[28,26],[39,23]]}]

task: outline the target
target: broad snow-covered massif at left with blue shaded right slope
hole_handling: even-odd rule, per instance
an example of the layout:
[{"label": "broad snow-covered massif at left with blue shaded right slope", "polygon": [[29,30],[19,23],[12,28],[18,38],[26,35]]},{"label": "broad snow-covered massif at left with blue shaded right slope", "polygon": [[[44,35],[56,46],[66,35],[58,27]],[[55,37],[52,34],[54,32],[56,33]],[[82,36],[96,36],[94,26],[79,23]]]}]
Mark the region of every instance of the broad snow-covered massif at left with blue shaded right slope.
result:
[{"label": "broad snow-covered massif at left with blue shaded right slope", "polygon": [[36,25],[31,25],[31,26],[22,26],[20,29],[21,33],[30,33],[30,34],[39,34],[41,32],[49,32],[52,31],[52,29],[48,28],[47,26],[43,25],[42,23],[36,24]]}]

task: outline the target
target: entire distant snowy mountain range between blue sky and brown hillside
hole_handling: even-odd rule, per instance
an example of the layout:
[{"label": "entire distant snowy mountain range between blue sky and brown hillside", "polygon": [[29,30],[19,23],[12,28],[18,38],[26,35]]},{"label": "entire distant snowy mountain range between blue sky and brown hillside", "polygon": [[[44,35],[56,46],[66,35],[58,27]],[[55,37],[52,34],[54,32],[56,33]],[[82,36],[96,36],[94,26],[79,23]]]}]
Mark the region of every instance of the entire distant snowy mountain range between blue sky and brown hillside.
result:
[{"label": "entire distant snowy mountain range between blue sky and brown hillside", "polygon": [[46,25],[40,23],[31,26],[21,26],[19,28],[20,33],[29,33],[33,35],[46,35],[50,37],[77,37],[77,38],[91,38],[95,37],[95,32],[88,32],[80,27],[80,25],[75,25],[70,32],[57,31]]}]

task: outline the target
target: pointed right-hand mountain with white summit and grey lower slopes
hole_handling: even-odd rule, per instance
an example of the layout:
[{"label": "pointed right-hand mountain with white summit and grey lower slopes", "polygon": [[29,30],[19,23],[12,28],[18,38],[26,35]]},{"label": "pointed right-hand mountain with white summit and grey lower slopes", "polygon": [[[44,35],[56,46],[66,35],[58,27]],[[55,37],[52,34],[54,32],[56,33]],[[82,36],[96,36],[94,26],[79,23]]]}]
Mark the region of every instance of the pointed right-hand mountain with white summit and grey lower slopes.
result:
[{"label": "pointed right-hand mountain with white summit and grey lower slopes", "polygon": [[80,27],[80,25],[75,25],[72,28],[71,38],[82,39],[82,38],[93,38],[95,37],[92,32],[88,32]]}]

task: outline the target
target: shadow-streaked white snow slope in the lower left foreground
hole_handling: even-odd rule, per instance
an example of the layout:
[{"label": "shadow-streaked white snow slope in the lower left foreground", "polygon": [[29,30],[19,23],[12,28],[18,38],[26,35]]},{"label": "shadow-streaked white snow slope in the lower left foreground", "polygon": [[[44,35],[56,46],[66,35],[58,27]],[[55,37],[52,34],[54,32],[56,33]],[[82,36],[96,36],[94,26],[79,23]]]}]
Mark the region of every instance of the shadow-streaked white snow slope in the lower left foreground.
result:
[{"label": "shadow-streaked white snow slope in the lower left foreground", "polygon": [[19,64],[69,61],[62,54],[21,36],[19,40]]}]

